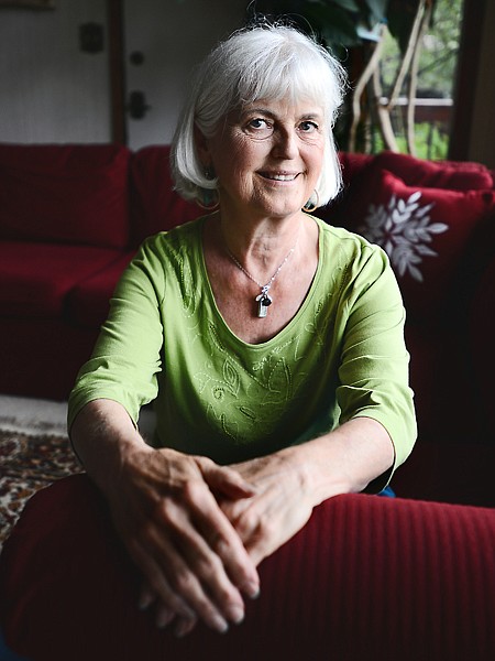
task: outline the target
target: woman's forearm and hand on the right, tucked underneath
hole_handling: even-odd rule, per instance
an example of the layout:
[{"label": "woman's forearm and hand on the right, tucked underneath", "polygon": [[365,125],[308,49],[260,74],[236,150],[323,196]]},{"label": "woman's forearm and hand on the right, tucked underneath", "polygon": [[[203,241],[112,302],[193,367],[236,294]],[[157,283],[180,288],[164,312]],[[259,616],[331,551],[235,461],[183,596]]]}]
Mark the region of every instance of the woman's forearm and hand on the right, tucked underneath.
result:
[{"label": "woman's forearm and hand on the right, tucked underneath", "polygon": [[256,494],[226,499],[222,509],[257,565],[305,525],[314,507],[362,491],[393,464],[386,430],[370,418],[355,418],[314,441],[233,465]]}]

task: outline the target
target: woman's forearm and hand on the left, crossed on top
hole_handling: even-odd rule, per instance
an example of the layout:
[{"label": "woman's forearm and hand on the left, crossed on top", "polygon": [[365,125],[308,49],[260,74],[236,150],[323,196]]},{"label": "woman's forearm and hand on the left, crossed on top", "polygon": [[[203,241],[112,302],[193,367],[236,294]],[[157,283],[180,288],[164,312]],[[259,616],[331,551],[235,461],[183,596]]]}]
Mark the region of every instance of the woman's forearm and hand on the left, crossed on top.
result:
[{"label": "woman's forearm and hand on the left, crossed on top", "polygon": [[258,576],[217,499],[250,497],[252,487],[204,457],[153,449],[111,400],[88,403],[70,437],[127,550],[160,598],[160,624],[177,615],[177,632],[184,633],[197,618],[218,631],[242,620],[241,590],[255,596]]}]

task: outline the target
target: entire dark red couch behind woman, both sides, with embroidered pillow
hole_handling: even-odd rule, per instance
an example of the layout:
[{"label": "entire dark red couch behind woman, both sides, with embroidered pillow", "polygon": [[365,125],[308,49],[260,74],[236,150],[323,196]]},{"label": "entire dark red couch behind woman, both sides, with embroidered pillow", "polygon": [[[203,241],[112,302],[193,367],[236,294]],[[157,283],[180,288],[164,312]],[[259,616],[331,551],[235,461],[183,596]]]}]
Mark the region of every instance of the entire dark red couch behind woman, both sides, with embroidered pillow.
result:
[{"label": "entire dark red couch behind woman, both sides, with embroidered pillow", "polygon": [[[495,505],[495,191],[475,163],[341,154],[319,209],[388,250],[407,310],[419,441],[400,495]],[[196,217],[168,148],[0,144],[0,392],[65,399],[140,241]]]}]

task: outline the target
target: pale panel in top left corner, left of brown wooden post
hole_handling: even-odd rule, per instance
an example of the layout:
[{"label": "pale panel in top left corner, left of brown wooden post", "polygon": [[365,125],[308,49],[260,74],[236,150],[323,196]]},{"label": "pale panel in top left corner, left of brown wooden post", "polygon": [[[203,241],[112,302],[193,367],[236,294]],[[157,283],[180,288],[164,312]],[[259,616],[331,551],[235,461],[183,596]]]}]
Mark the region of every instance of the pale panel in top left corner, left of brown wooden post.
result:
[{"label": "pale panel in top left corner, left of brown wooden post", "polygon": [[106,22],[107,0],[0,8],[0,141],[110,140]]}]

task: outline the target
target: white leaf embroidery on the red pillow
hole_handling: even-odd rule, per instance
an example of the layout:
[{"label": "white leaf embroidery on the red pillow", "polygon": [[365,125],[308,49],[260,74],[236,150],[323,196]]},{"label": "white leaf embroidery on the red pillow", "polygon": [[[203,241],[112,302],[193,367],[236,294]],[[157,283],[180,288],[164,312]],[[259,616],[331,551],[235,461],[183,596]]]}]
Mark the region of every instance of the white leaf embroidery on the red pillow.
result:
[{"label": "white leaf embroidery on the red pillow", "polygon": [[406,272],[422,282],[419,264],[425,257],[438,257],[432,250],[432,235],[449,229],[444,223],[430,223],[435,203],[421,206],[421,192],[416,191],[407,199],[393,195],[387,205],[371,204],[364,225],[358,228],[372,243],[378,243],[388,254],[399,275]]}]

